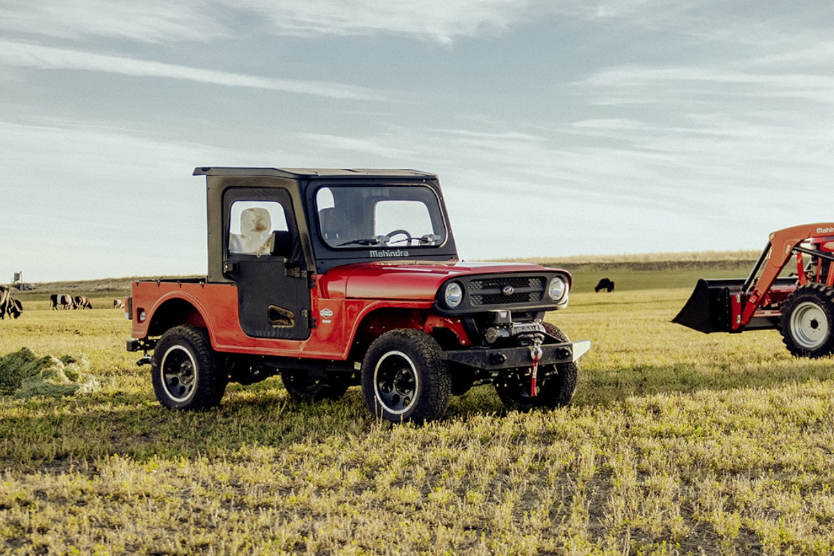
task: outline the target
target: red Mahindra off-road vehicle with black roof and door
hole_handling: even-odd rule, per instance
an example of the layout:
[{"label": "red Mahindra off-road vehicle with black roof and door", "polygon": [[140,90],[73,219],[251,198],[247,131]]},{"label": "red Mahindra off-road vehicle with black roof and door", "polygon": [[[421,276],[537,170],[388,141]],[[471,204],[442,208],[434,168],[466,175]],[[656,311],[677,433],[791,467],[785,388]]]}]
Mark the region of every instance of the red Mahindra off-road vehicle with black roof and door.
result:
[{"label": "red Mahindra off-road vehicle with black roof and door", "polygon": [[[128,351],[168,408],[220,403],[280,374],[294,398],[361,384],[391,421],[440,418],[492,383],[512,407],[570,402],[576,360],[545,312],[570,274],[462,263],[437,176],[413,170],[196,168],[208,185],[208,276],[137,281]],[[148,353],[153,351],[153,356]]]}]

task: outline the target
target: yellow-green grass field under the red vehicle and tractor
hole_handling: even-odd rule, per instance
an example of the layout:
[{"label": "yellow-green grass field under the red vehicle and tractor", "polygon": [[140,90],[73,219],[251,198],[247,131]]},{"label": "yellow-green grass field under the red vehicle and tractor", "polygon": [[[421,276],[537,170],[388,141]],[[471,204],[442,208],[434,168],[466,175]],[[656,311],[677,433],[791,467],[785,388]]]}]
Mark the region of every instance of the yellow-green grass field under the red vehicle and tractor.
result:
[{"label": "yellow-green grass field under the red vehicle and tractor", "polygon": [[0,398],[0,552],[831,554],[834,361],[671,324],[686,273],[747,267],[717,266],[577,267],[549,316],[593,343],[574,403],[508,413],[480,387],[423,427],[375,421],[358,388],[294,403],[278,378],[163,410],[99,309],[118,287],[90,288],[93,311],[28,293],[0,355],[71,354],[103,388]]}]

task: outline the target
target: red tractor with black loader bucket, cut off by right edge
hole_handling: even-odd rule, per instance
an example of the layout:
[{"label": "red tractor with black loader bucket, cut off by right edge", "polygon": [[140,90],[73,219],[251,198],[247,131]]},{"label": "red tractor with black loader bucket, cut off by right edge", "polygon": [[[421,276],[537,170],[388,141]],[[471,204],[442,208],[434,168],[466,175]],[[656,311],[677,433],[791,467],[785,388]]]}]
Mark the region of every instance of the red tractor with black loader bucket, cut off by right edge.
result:
[{"label": "red tractor with black loader bucket, cut off by right edge", "polygon": [[771,233],[747,278],[698,280],[672,322],[703,333],[778,328],[797,357],[834,352],[834,223]]}]

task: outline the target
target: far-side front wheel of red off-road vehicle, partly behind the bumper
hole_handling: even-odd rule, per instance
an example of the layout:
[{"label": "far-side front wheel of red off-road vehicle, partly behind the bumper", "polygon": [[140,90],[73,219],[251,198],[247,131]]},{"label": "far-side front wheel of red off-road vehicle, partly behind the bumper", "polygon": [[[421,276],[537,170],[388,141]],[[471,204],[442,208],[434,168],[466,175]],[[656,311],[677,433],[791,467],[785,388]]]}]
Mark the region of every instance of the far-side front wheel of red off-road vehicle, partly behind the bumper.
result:
[{"label": "far-side front wheel of red off-road vehicle, partly behind the bumper", "polygon": [[[545,331],[561,342],[570,342],[565,333],[553,324],[544,323]],[[560,408],[570,403],[576,388],[579,368],[576,363],[542,365],[536,382],[535,396],[530,393],[529,379],[510,379],[495,383],[495,392],[508,408],[530,411],[534,408]]]}]

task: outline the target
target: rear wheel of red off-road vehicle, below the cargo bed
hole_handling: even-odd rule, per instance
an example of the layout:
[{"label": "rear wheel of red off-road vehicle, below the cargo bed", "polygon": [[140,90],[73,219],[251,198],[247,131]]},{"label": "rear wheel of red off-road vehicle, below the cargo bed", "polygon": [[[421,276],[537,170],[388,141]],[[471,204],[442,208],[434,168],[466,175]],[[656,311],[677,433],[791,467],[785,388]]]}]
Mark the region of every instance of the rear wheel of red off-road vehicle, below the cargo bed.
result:
[{"label": "rear wheel of red off-road vehicle, below the cargo bed", "polygon": [[205,329],[177,326],[153,350],[151,382],[166,408],[203,409],[220,403],[228,379]]}]

